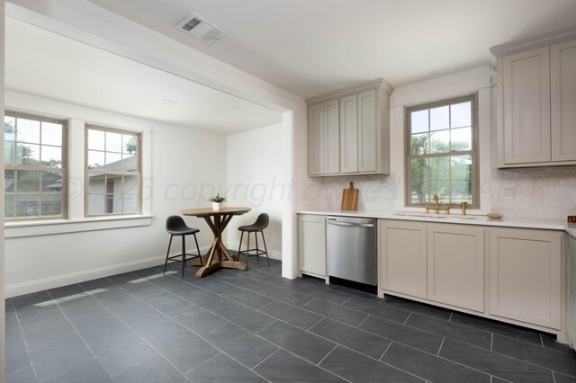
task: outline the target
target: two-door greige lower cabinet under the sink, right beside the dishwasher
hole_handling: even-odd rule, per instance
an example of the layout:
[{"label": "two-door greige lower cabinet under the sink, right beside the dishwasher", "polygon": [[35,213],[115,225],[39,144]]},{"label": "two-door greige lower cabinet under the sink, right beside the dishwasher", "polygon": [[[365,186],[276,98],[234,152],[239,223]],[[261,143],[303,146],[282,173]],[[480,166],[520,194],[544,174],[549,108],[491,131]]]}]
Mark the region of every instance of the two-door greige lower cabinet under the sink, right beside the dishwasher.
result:
[{"label": "two-door greige lower cabinet under the sink, right beside the dishwasher", "polygon": [[484,227],[381,220],[384,293],[484,311]]}]

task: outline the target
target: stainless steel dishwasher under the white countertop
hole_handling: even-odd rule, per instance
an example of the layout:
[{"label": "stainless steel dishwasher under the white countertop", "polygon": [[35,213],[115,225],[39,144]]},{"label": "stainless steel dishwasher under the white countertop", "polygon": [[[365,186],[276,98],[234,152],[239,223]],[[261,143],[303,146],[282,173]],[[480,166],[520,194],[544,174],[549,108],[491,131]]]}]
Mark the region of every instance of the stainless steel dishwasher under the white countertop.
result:
[{"label": "stainless steel dishwasher under the white countertop", "polygon": [[329,276],[376,286],[376,219],[329,216]]}]

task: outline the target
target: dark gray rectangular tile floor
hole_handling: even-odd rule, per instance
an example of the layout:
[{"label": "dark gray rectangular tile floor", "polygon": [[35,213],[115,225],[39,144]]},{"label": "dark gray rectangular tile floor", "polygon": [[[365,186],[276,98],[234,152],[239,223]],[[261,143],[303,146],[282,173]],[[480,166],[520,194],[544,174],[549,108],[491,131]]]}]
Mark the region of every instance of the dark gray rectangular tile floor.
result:
[{"label": "dark gray rectangular tile floor", "polygon": [[6,382],[576,382],[549,334],[250,264],[6,299]]}]

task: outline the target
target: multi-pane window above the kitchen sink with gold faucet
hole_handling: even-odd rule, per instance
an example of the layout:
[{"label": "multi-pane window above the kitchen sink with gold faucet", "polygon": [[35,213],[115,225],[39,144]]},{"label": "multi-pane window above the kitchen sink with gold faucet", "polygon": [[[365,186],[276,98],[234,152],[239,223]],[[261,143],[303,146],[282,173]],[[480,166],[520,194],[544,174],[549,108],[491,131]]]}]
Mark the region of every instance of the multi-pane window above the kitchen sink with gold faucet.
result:
[{"label": "multi-pane window above the kitchen sink with gold faucet", "polygon": [[479,208],[476,96],[407,108],[406,205]]}]

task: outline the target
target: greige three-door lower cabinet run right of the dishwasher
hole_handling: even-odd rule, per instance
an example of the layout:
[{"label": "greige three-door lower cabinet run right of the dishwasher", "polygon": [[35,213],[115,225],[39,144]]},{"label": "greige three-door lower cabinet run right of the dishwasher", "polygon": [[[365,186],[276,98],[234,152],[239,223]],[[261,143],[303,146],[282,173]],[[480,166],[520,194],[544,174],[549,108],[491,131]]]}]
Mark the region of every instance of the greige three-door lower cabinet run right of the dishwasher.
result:
[{"label": "greige three-door lower cabinet run right of the dishwasher", "polygon": [[[558,334],[565,341],[563,232],[380,219],[379,295]],[[576,281],[576,240],[568,265]],[[576,336],[576,282],[568,332]],[[572,326],[572,327],[571,327]]]}]

